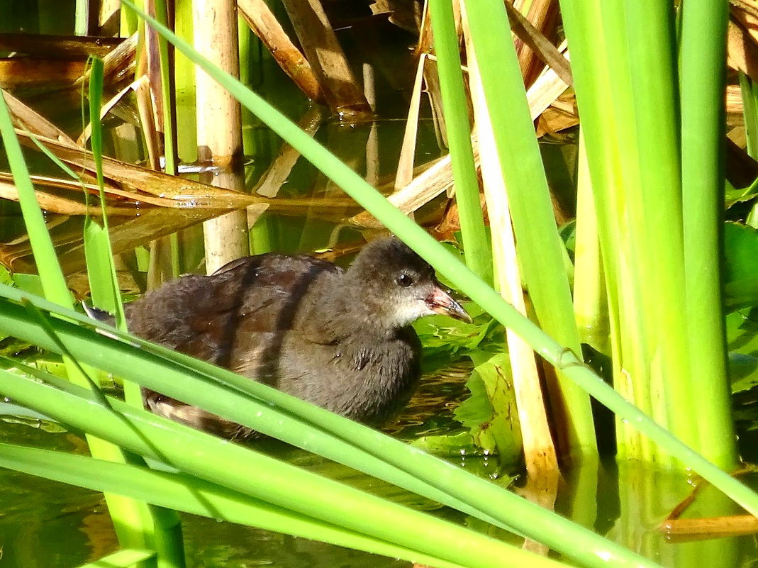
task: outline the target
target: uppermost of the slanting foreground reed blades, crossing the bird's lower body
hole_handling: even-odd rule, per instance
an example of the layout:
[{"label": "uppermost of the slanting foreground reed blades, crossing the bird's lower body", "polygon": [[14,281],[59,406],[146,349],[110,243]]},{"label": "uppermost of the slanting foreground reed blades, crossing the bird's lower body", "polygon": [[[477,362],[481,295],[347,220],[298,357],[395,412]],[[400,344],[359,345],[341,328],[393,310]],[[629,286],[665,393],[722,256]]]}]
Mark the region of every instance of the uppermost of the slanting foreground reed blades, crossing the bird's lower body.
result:
[{"label": "uppermost of the slanting foreground reed blades, crossing the bird's lower body", "polygon": [[[12,304],[7,306],[0,304],[0,306],[9,315],[5,322],[0,322],[0,328],[5,328],[6,325],[14,322],[14,334],[26,336],[29,332],[33,333],[30,325],[14,317],[15,309]],[[56,324],[58,333],[66,335],[67,345],[71,347],[78,344],[81,347],[78,353],[85,356],[89,362],[98,361],[100,366],[110,369],[120,364],[128,373],[145,378],[149,388],[163,391],[168,396],[186,400],[189,403],[201,403],[211,412],[227,419],[249,425],[251,428],[290,441],[306,450],[347,463],[356,469],[377,475],[381,479],[388,479],[390,482],[424,494],[436,501],[462,508],[486,520],[494,519],[498,524],[512,526],[518,532],[529,535],[530,538],[545,541],[551,548],[562,551],[589,566],[603,565],[600,562],[600,557],[603,555],[614,558],[614,561],[622,566],[636,565],[641,561],[634,554],[629,556],[631,554],[629,551],[574,526],[565,519],[516,497],[509,491],[503,491],[490,482],[478,479],[451,464],[381,435],[371,428],[328,413],[317,406],[275,391],[263,384],[249,381],[179,353],[152,346],[142,340],[134,339],[140,345],[139,348],[125,344],[114,345],[113,340],[93,334],[92,331],[77,328],[70,323],[60,321]],[[66,332],[66,329],[70,331]],[[113,330],[113,328],[109,329]],[[20,333],[22,331],[23,333]],[[38,335],[36,339],[44,340],[45,337]],[[157,358],[151,352],[156,355],[161,353],[161,357]],[[119,354],[116,355],[116,353]],[[176,364],[167,364],[166,358],[180,362],[183,372],[177,374]],[[202,372],[190,373],[189,366],[202,369]],[[201,376],[205,376],[205,380],[199,380]],[[215,377],[215,381],[208,383],[208,378],[211,376]],[[223,381],[223,384],[219,381]],[[224,387],[224,384],[228,386]],[[7,389],[7,387],[4,388]],[[243,393],[247,394],[243,396]],[[17,393],[14,394],[17,396]],[[233,394],[236,396],[232,396]],[[42,397],[36,394],[28,402],[34,403],[39,408],[40,400]],[[272,403],[274,406],[271,406]],[[48,413],[52,409],[39,410]],[[73,403],[64,405],[64,410],[55,410],[58,413],[64,411],[72,413],[72,416],[59,416],[63,422],[77,419],[77,416],[83,414],[81,410],[74,410]],[[123,412],[137,411],[124,410]],[[297,416],[302,418],[298,419]],[[96,425],[102,426],[103,420],[103,418],[97,419]],[[301,422],[303,420],[317,428],[315,430],[305,428]],[[331,439],[330,444],[333,449],[330,449],[327,444],[329,439]],[[180,444],[180,447],[183,446],[184,444]],[[170,450],[180,450],[180,447]],[[377,458],[384,460],[384,463]],[[398,471],[403,475],[399,475]],[[409,479],[414,478],[415,483],[408,482]],[[436,492],[431,491],[430,488]],[[446,497],[446,494],[449,496]],[[460,507],[460,503],[468,507]],[[546,527],[553,527],[553,529],[546,529]],[[581,548],[575,547],[576,541],[583,541],[585,545]],[[587,551],[602,551],[602,553],[590,554]]]}]

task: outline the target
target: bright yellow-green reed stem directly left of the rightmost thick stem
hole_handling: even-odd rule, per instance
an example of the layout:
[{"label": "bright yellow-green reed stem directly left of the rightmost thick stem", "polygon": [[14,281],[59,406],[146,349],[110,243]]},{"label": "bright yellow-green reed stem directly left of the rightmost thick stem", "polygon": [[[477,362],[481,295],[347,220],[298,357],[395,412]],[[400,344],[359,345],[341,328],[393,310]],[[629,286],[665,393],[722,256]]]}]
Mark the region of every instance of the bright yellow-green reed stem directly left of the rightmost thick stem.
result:
[{"label": "bright yellow-green reed stem directly left of the rightmost thick stem", "polygon": [[[638,187],[628,186],[632,237],[640,244],[633,270],[642,293],[644,340],[650,368],[634,377],[664,395],[659,413],[672,433],[699,447],[694,410],[684,290],[681,172],[672,5],[648,0],[624,6],[631,73],[631,115]],[[643,29],[644,28],[644,29]],[[631,117],[634,117],[631,119]],[[656,275],[654,284],[650,275]],[[655,399],[653,399],[655,404]],[[655,410],[655,406],[653,407]]]}]

